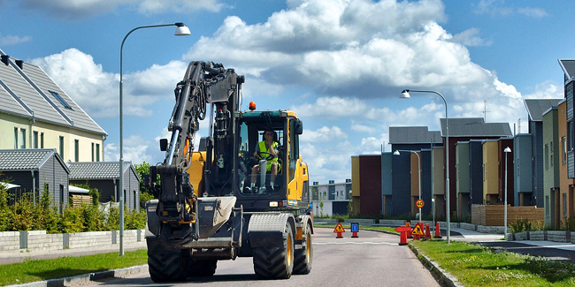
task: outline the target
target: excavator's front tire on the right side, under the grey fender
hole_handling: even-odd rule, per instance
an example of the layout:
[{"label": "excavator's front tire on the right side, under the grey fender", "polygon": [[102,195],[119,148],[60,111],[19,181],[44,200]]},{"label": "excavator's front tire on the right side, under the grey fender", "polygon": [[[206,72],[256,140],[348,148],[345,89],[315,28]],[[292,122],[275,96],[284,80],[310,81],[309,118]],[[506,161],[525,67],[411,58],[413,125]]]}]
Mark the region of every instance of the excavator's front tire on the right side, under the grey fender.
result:
[{"label": "excavator's front tire on the right side, under the grey fender", "polygon": [[288,279],[294,271],[294,231],[289,223],[281,247],[253,248],[254,271],[259,279]]}]

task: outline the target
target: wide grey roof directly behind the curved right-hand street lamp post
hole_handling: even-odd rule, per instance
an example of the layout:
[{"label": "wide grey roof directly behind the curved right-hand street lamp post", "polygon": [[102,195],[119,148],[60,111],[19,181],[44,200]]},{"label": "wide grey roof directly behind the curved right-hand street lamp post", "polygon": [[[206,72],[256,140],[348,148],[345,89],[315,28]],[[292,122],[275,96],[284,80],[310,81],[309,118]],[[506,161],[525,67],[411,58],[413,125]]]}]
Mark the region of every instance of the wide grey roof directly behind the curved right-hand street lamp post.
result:
[{"label": "wide grey roof directly behind the curved right-hand street lamp post", "polygon": [[[441,136],[446,135],[446,120],[440,118]],[[486,123],[483,117],[449,118],[449,137],[510,137],[508,123]]]}]

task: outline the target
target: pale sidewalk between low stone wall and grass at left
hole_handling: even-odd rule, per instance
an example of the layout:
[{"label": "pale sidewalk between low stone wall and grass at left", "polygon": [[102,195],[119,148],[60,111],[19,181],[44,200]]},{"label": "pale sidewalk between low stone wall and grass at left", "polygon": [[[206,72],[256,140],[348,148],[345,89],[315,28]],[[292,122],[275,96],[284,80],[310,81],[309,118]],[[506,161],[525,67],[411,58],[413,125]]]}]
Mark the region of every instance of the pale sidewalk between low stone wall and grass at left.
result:
[{"label": "pale sidewalk between low stone wall and grass at left", "polygon": [[[129,243],[124,245],[124,251],[134,251],[140,249],[146,249],[146,241]],[[62,249],[58,251],[42,251],[42,250],[31,250],[19,251],[19,252],[2,252],[0,253],[0,265],[18,263],[25,260],[41,260],[41,259],[54,259],[58,257],[68,257],[68,256],[85,256],[93,255],[99,253],[119,253],[119,245],[100,245],[95,247],[85,248],[73,248],[73,249]]]}]

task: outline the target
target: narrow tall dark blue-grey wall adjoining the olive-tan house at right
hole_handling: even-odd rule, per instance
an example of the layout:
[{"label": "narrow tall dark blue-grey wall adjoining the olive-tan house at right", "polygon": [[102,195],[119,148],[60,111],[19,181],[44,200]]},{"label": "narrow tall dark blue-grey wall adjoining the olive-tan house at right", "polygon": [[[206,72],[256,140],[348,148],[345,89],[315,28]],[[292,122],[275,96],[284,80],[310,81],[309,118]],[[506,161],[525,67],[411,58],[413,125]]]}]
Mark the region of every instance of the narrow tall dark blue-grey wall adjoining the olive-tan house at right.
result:
[{"label": "narrow tall dark blue-grey wall adjoining the olive-tan house at right", "polygon": [[532,134],[533,197],[538,208],[543,208],[543,123],[529,121]]}]

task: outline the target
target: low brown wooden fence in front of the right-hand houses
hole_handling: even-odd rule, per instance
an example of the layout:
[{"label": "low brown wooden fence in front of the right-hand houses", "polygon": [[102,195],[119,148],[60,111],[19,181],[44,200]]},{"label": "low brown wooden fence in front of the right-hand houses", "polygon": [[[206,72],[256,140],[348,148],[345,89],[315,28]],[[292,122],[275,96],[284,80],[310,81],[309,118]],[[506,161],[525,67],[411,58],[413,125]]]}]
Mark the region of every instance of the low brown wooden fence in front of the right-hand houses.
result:
[{"label": "low brown wooden fence in front of the right-hand houses", "polygon": [[[503,226],[505,211],[503,205],[472,205],[472,223],[484,226]],[[537,207],[507,207],[507,224],[519,219],[530,222],[543,222],[544,208]]]}]

